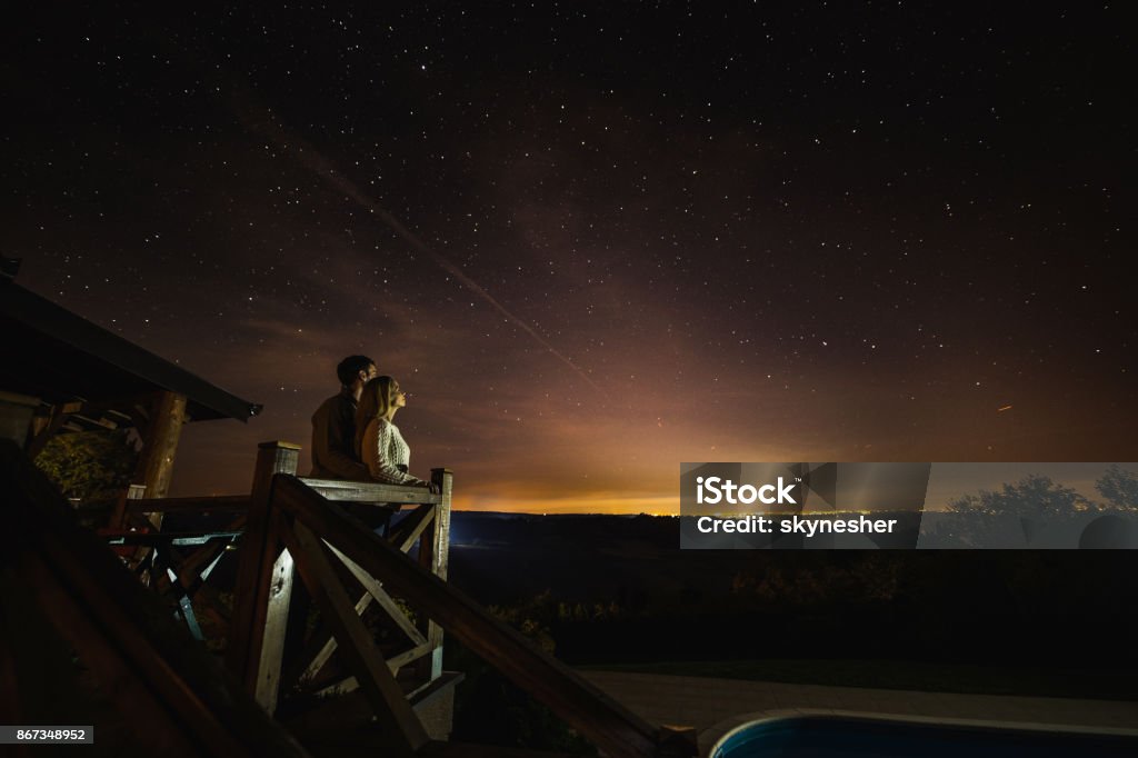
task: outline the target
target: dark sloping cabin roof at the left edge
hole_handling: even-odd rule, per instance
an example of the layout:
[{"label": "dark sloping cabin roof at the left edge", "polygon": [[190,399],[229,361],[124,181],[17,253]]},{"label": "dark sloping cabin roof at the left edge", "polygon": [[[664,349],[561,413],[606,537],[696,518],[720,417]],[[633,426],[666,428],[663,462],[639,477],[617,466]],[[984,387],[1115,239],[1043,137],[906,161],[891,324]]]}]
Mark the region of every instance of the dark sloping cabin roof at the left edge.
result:
[{"label": "dark sloping cabin roof at the left edge", "polygon": [[193,421],[247,421],[262,405],[0,277],[0,389],[57,404],[114,404],[170,390],[184,395]]}]

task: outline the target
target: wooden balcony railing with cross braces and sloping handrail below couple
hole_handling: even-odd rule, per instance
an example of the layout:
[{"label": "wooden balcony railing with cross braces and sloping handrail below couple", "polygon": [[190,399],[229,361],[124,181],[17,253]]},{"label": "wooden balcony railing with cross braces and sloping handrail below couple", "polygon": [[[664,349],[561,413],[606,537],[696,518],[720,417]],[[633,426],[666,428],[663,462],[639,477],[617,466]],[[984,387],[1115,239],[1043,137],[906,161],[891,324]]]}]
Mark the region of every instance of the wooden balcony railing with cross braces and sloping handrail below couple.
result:
[{"label": "wooden balcony railing with cross braces and sloping handrail below couple", "polygon": [[[298,452],[288,443],[262,444],[248,497],[145,500],[135,491],[118,509],[127,521],[121,526],[156,511],[209,512],[228,514],[223,529],[107,536],[119,551],[151,549],[139,570],[145,569],[152,588],[175,598],[191,631],[197,627],[193,605],[211,616],[214,627],[226,629],[228,668],[262,712],[277,714],[308,744],[311,732],[305,730],[323,724],[314,715],[345,711],[329,697],[351,692],[348,698],[364,707],[364,726],[366,716],[376,722],[374,728],[353,733],[356,748],[372,744],[382,750],[376,755],[445,755],[447,748],[428,738],[409,699],[446,681],[445,629],[605,755],[695,755],[691,730],[657,727],[640,718],[447,583],[448,470],[431,472],[438,494],[305,479],[296,476]],[[405,512],[381,536],[370,526],[374,520],[357,518],[369,516],[368,509]],[[149,517],[139,521],[150,522]],[[230,611],[204,577],[234,546],[238,534]],[[118,571],[125,575],[121,562]],[[323,626],[303,634],[310,602]],[[388,629],[382,645],[362,619],[370,607],[381,611]]]}]

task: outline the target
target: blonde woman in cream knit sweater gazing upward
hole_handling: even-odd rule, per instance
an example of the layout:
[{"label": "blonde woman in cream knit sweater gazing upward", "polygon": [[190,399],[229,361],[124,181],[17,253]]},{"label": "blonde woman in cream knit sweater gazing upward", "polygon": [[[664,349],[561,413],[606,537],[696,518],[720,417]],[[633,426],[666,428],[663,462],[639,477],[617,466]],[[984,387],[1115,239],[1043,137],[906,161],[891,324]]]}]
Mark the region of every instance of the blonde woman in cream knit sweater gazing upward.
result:
[{"label": "blonde woman in cream knit sweater gazing upward", "polygon": [[434,492],[431,483],[407,473],[411,448],[403,440],[399,428],[391,423],[406,404],[407,396],[391,377],[376,377],[364,385],[356,407],[356,451],[376,481],[427,487]]}]

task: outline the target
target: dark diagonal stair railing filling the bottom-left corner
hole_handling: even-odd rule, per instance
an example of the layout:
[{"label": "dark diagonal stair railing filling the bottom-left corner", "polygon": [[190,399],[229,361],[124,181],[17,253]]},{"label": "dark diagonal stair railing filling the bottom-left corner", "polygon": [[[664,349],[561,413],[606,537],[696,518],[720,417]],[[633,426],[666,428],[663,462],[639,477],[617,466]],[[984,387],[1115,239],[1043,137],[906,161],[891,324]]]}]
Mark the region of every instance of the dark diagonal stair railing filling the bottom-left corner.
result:
[{"label": "dark diagonal stair railing filling the bottom-left corner", "polygon": [[[59,643],[52,642],[58,635],[105,687],[146,752],[310,755],[236,687],[104,541],[76,525],[69,503],[7,439],[0,439],[0,491],[8,535],[0,553],[0,720],[58,718],[52,711],[59,693],[51,690],[59,685],[43,681],[59,670]],[[41,618],[52,634],[34,632]],[[69,664],[66,648],[63,653]]]}]

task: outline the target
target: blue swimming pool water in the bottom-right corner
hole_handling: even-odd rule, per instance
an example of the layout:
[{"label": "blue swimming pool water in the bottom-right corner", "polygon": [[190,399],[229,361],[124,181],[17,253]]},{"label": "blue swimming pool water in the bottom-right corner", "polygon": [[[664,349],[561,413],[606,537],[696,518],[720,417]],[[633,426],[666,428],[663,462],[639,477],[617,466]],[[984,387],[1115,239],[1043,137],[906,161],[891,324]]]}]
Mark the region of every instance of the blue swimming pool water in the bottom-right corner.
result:
[{"label": "blue swimming pool water in the bottom-right corner", "polygon": [[801,716],[731,732],[711,758],[1135,758],[1138,738]]}]

